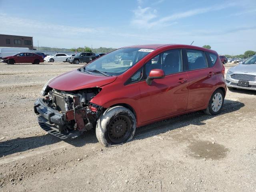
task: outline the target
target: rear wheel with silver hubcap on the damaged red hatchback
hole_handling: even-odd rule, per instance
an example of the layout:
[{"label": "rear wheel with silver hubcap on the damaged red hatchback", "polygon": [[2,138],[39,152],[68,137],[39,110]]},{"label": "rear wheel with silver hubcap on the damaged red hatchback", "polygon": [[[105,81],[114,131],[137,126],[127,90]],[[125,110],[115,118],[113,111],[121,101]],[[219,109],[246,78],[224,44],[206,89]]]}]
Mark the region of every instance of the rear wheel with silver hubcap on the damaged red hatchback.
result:
[{"label": "rear wheel with silver hubcap on the damaged red hatchback", "polygon": [[209,104],[206,110],[204,110],[204,112],[208,115],[217,115],[220,113],[223,107],[223,104],[224,104],[224,93],[222,92],[222,90],[217,89],[212,94]]}]

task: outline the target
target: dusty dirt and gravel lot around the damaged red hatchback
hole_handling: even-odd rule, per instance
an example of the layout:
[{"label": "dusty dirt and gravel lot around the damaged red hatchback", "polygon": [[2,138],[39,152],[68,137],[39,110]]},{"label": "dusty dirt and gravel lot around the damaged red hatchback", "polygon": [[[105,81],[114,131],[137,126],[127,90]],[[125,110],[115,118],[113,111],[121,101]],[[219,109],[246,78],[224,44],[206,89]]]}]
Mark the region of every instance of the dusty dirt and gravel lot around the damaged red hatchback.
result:
[{"label": "dusty dirt and gravel lot around the damaged red hatchback", "polygon": [[164,120],[104,148],[94,130],[46,134],[33,112],[43,84],[78,66],[0,63],[0,191],[256,191],[256,91],[228,91],[218,116]]}]

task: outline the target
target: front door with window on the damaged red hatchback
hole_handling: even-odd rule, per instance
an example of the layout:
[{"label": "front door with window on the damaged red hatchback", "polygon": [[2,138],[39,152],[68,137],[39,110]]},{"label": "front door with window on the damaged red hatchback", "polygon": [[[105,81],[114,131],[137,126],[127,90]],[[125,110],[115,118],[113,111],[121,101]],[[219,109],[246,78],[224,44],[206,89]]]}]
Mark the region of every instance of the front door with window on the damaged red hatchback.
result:
[{"label": "front door with window on the damaged red hatchback", "polygon": [[167,50],[145,64],[146,76],[150,70],[164,70],[166,76],[154,79],[151,85],[138,82],[140,87],[141,122],[184,112],[188,104],[188,76],[182,67],[182,50]]}]

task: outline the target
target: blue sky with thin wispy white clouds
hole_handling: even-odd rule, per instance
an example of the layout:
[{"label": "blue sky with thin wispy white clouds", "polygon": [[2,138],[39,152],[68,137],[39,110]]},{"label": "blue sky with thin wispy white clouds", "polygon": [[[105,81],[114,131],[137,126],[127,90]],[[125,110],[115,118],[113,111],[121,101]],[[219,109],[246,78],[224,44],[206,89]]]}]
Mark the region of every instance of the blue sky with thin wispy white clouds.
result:
[{"label": "blue sky with thin wispy white clouds", "polygon": [[58,48],[209,44],[256,51],[256,0],[0,0],[0,34]]}]

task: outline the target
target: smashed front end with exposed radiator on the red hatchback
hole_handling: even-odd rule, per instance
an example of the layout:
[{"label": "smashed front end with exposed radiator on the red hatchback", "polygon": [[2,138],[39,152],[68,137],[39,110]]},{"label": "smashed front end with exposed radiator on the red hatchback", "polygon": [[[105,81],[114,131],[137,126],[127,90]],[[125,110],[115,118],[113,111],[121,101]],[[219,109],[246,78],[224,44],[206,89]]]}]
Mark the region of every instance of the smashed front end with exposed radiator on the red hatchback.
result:
[{"label": "smashed front end with exposed radiator on the red hatchback", "polygon": [[43,88],[34,103],[34,112],[42,129],[61,139],[76,138],[96,126],[102,107],[90,102],[101,88],[62,91]]}]

